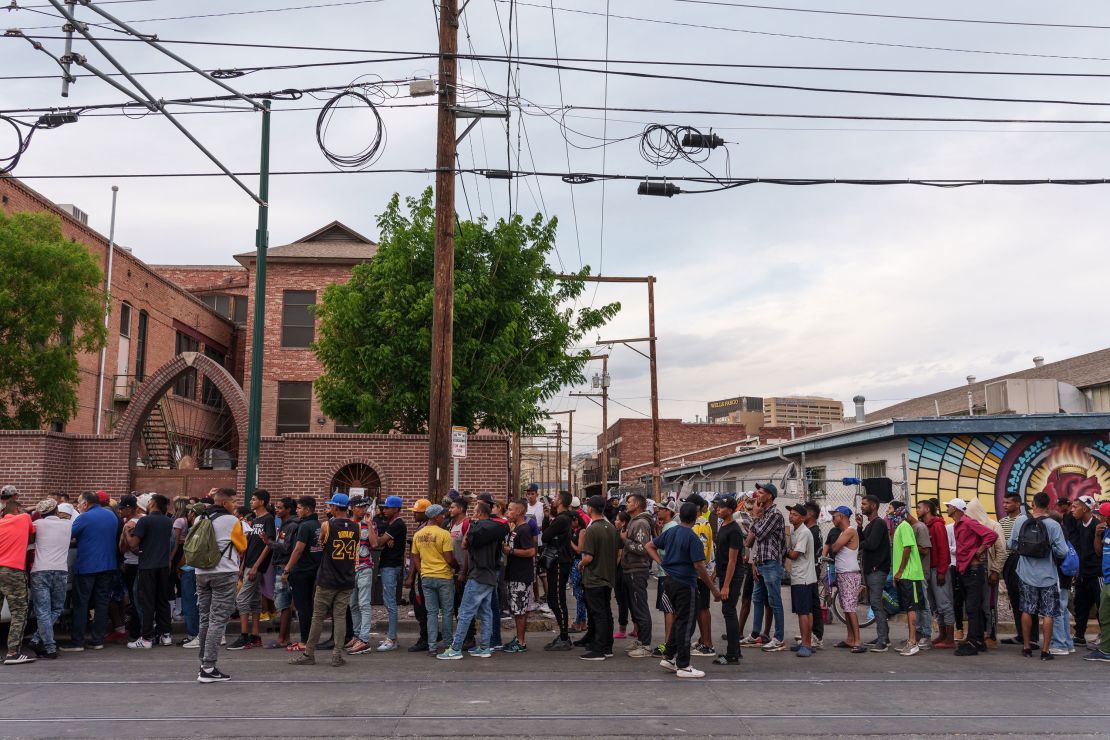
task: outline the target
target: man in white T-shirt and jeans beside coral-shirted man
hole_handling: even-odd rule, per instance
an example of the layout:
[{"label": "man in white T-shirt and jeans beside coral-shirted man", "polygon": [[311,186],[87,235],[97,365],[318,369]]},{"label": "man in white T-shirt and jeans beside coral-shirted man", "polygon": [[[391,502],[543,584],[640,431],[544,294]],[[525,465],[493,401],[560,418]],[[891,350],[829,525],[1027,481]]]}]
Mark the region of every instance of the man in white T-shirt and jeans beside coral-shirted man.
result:
[{"label": "man in white T-shirt and jeans beside coral-shirted man", "polygon": [[34,564],[31,566],[31,605],[39,622],[31,648],[40,658],[57,658],[54,622],[65,606],[69,578],[69,546],[72,524],[58,516],[58,501],[44,498],[36,507],[41,517],[34,523]]}]

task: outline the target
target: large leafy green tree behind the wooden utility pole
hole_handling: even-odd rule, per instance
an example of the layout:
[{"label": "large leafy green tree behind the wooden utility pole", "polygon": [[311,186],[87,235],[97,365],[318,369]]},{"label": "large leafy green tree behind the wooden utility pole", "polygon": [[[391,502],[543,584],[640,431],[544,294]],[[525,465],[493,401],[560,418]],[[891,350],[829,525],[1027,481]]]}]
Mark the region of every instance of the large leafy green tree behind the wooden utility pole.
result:
[{"label": "large leafy green tree behind the wooden utility pole", "polygon": [[[432,190],[394,195],[379,217],[377,255],[349,283],[324,291],[315,349],[325,414],[360,432],[427,428],[435,212]],[[483,216],[455,229],[453,423],[471,429],[535,430],[541,404],[581,383],[588,351],[573,351],[618,303],[575,310],[582,281],[547,266],[556,221]],[[588,274],[588,267],[582,275]]]}]

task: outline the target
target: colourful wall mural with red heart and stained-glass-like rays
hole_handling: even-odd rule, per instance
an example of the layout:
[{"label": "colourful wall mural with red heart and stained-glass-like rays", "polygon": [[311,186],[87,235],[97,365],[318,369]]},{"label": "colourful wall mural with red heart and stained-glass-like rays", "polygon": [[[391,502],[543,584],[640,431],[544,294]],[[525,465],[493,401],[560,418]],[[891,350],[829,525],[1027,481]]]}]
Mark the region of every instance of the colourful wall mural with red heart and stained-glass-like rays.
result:
[{"label": "colourful wall mural with red heart and stained-glass-like rays", "polygon": [[1017,493],[1058,498],[1110,496],[1110,442],[1106,435],[999,434],[910,437],[915,501],[978,498],[992,516]]}]

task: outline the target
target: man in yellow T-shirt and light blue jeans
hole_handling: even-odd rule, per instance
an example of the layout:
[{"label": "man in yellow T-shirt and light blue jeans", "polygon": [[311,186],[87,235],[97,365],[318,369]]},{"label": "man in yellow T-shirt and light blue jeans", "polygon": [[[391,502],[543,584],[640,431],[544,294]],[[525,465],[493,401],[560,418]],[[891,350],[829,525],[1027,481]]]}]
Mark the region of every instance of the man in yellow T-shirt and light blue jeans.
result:
[{"label": "man in yellow T-shirt and light blue jeans", "polygon": [[455,553],[451,533],[444,529],[446,513],[438,504],[424,510],[427,526],[413,535],[413,567],[420,572],[427,609],[427,649],[433,656],[440,638],[450,639],[455,608]]}]

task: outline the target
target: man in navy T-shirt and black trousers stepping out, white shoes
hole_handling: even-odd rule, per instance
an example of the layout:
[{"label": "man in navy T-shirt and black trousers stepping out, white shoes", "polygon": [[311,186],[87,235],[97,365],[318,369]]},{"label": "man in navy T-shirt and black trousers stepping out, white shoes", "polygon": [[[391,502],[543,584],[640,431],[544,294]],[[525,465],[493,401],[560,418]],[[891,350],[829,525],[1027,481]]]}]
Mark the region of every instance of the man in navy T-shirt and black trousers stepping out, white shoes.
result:
[{"label": "man in navy T-shirt and black trousers stepping out, white shoes", "polygon": [[[678,678],[702,678],[705,671],[690,666],[690,635],[697,604],[697,581],[700,579],[720,601],[720,589],[705,568],[705,548],[694,534],[698,506],[686,501],[678,509],[678,525],[646,543],[647,555],[667,571],[665,598],[675,612],[675,624],[667,636],[667,647],[659,665],[675,671]],[[660,556],[659,550],[664,554]]]}]

